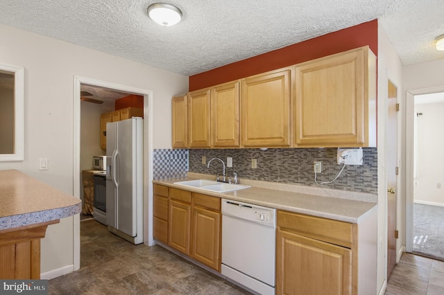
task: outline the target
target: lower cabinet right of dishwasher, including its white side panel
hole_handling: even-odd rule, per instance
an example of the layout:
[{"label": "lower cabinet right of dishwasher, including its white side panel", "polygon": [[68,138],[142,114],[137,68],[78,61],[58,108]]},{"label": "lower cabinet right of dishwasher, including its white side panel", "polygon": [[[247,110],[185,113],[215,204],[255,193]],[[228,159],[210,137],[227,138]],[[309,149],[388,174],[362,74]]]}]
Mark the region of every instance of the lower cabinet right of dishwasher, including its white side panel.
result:
[{"label": "lower cabinet right of dishwasher, including its white side panel", "polygon": [[376,224],[278,211],[276,294],[377,294]]}]

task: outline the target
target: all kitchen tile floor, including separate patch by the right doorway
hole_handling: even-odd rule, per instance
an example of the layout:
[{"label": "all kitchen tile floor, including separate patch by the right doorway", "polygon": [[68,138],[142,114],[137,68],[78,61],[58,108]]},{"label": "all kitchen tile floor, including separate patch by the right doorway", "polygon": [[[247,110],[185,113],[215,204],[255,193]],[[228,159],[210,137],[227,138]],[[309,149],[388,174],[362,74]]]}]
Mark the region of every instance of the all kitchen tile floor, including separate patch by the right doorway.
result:
[{"label": "all kitchen tile floor, including separate patch by the right doorway", "polygon": [[[80,222],[80,270],[49,294],[250,294],[160,246],[133,245],[95,220]],[[385,295],[444,294],[444,262],[404,253]]]}]

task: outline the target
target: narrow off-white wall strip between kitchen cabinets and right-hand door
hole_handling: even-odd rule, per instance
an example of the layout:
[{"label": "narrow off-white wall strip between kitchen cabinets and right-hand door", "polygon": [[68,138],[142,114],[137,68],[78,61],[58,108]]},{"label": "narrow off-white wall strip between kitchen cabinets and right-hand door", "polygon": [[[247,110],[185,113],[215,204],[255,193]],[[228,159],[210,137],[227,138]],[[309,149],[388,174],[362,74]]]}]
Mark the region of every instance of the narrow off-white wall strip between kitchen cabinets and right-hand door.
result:
[{"label": "narrow off-white wall strip between kitchen cabinets and right-hand door", "polygon": [[[398,97],[402,93],[402,62],[388,39],[384,28],[378,25],[378,70],[377,70],[377,161],[378,161],[378,253],[377,253],[377,290],[384,287],[387,278],[387,198],[386,198],[386,149],[390,143],[386,142],[385,130],[387,121],[387,81],[390,79],[398,87]],[[400,118],[398,120],[400,122]],[[402,159],[398,152],[398,159]],[[401,187],[400,177],[398,188]],[[402,192],[398,191],[398,195]],[[398,220],[402,219],[402,202],[398,202]],[[400,222],[398,221],[398,225]],[[402,233],[401,233],[402,234]],[[402,244],[398,244],[400,249]]]}]

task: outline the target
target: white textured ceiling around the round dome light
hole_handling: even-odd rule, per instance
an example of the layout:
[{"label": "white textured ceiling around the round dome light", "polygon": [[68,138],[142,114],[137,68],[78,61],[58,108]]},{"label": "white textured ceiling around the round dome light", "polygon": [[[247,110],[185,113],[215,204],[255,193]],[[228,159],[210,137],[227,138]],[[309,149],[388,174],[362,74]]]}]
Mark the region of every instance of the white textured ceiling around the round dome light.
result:
[{"label": "white textured ceiling around the round dome light", "polygon": [[[162,27],[155,0],[0,0],[0,23],[194,75],[379,19],[404,64],[444,58],[442,0],[165,0],[182,10]],[[162,1],[160,1],[162,2]]]}]

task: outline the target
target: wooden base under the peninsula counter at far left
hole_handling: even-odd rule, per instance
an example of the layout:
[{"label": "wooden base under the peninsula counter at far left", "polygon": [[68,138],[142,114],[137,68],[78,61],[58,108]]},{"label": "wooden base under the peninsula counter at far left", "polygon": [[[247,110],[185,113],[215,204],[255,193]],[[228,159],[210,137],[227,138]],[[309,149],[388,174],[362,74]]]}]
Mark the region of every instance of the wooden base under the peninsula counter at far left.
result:
[{"label": "wooden base under the peninsula counter at far left", "polygon": [[40,279],[40,239],[59,220],[0,230],[0,279]]}]

